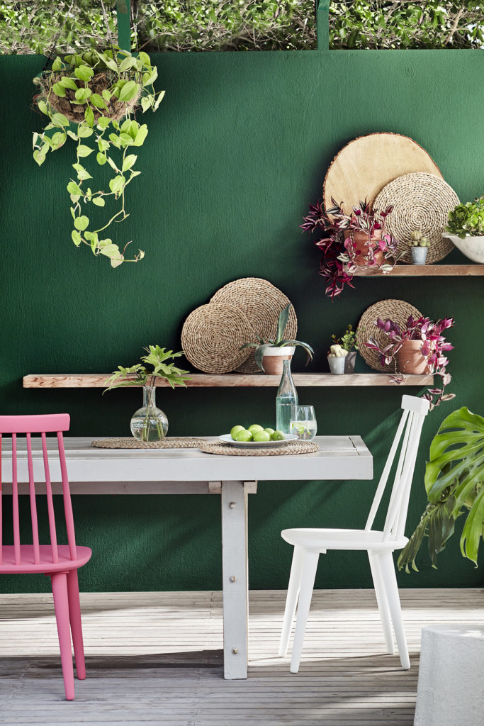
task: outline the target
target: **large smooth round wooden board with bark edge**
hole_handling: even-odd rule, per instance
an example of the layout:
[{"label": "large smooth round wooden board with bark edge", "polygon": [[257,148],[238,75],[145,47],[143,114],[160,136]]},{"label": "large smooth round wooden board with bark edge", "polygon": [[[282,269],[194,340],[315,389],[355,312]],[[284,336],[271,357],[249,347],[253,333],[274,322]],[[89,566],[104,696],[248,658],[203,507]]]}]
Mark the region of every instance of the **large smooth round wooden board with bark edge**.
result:
[{"label": "large smooth round wooden board with bark edge", "polygon": [[443,179],[437,164],[417,142],[401,134],[358,136],[335,156],[323,185],[324,208],[332,206],[331,197],[350,213],[360,200],[374,198],[397,176],[424,171]]}]

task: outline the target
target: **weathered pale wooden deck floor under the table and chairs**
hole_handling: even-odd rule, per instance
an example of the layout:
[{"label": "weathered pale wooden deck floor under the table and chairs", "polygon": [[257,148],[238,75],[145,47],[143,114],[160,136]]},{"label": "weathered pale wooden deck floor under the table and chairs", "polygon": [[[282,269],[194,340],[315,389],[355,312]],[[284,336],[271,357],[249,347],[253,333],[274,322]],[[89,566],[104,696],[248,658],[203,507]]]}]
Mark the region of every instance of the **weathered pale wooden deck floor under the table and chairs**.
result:
[{"label": "weathered pale wooden deck floor under the table and chairs", "polygon": [[484,622],[484,590],[403,590],[412,667],[383,647],[372,590],[315,592],[300,672],[277,657],[285,592],[250,593],[246,681],[222,676],[219,592],[81,595],[88,677],[64,700],[47,595],[0,595],[0,724],[410,726],[420,629]]}]

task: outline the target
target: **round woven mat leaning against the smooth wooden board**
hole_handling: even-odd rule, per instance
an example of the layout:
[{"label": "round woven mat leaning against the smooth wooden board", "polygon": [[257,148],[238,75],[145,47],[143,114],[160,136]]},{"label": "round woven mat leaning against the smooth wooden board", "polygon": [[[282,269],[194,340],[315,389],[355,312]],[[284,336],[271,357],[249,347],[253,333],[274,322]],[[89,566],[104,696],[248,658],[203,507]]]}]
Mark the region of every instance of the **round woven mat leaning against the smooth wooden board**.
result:
[{"label": "round woven mat leaning against the smooth wooden board", "polygon": [[374,200],[374,209],[393,205],[386,228],[398,240],[401,259],[411,261],[411,232],[423,232],[430,240],[427,265],[443,259],[454,249],[451,240],[442,237],[448,223],[448,211],[459,204],[459,197],[446,181],[434,174],[413,173],[398,176],[382,189]]}]

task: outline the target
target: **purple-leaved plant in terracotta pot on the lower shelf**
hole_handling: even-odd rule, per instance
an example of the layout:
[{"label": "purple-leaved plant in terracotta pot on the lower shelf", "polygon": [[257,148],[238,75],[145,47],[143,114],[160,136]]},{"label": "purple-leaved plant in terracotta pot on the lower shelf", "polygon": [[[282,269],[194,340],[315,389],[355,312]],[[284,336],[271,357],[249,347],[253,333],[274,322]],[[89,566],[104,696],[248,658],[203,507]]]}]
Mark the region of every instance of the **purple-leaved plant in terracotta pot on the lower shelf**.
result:
[{"label": "purple-leaved plant in terracotta pot on the lower shelf", "polygon": [[[424,398],[430,401],[430,409],[440,404],[440,401],[450,401],[454,393],[444,393],[446,385],[451,382],[451,375],[447,372],[447,351],[454,349],[443,335],[444,330],[454,325],[454,318],[443,318],[433,322],[430,318],[409,316],[405,327],[401,327],[393,320],[378,318],[374,323],[379,330],[387,334],[390,342],[381,347],[373,337],[365,345],[380,353],[380,362],[384,366],[396,364],[400,373],[420,374],[431,373],[440,376],[442,388],[429,388]],[[402,379],[395,378],[395,383]]]}]

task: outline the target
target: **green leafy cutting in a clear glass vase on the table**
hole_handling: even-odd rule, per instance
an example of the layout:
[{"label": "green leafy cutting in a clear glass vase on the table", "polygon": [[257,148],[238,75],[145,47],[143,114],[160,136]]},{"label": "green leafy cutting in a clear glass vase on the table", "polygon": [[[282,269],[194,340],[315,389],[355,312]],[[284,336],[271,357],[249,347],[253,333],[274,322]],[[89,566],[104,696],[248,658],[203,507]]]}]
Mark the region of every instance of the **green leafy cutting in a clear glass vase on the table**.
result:
[{"label": "green leafy cutting in a clear glass vase on the table", "polygon": [[107,378],[108,387],[104,389],[104,393],[120,386],[143,386],[143,405],[131,417],[131,433],[138,441],[160,441],[168,433],[168,418],[156,405],[156,379],[163,378],[171,388],[186,388],[185,381],[190,378],[184,375],[188,373],[187,370],[168,362],[182,356],[183,351],[173,353],[160,346],[147,346],[144,350],[147,355],[141,356],[141,363],[128,368],[118,366],[118,370]]}]

